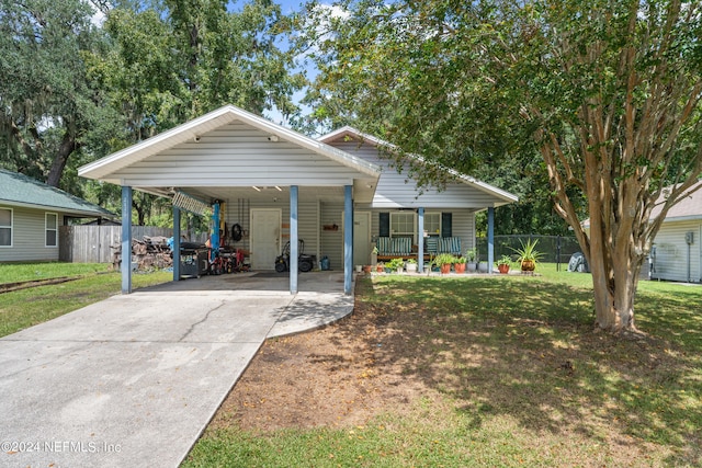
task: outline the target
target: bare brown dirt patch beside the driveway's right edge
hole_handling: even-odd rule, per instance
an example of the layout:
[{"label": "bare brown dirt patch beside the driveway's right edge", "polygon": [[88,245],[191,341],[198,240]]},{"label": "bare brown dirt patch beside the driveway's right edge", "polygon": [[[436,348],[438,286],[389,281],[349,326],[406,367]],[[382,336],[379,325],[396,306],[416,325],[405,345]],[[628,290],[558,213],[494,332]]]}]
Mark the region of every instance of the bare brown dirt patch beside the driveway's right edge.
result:
[{"label": "bare brown dirt patch beside the driveway's right edge", "polygon": [[399,366],[381,364],[387,361],[387,332],[383,312],[356,304],[353,315],[332,326],[269,340],[211,429],[347,426],[380,412],[401,413],[406,403],[432,390],[403,376]]}]

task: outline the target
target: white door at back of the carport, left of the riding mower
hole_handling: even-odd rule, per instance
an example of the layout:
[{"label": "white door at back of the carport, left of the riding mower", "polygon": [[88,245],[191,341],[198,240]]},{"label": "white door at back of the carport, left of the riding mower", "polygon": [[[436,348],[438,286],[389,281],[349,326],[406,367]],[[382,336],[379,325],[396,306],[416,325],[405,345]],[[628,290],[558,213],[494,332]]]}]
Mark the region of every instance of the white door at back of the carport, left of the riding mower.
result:
[{"label": "white door at back of the carport, left of the riding mower", "polygon": [[281,254],[282,213],[278,208],[251,209],[251,269],[274,270]]}]

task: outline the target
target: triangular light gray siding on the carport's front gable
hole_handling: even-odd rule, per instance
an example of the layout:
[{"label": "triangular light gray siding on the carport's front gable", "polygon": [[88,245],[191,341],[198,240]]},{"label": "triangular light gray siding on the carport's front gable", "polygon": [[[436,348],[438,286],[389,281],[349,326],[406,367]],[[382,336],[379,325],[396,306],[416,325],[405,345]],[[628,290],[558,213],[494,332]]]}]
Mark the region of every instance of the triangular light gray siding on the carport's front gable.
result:
[{"label": "triangular light gray siding on the carport's front gable", "polygon": [[[256,160],[256,164],[251,161]],[[215,169],[215,170],[213,170]],[[229,124],[147,158],[113,176],[133,186],[351,184],[359,172],[242,124]]]}]

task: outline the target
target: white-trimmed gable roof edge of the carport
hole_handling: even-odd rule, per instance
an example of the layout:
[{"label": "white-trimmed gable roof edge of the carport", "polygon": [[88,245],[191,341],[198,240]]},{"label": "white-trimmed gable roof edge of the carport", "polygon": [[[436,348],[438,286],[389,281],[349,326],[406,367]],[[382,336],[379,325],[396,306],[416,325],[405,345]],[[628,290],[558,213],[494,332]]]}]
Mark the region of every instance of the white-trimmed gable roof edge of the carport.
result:
[{"label": "white-trimmed gable roof edge of the carport", "polygon": [[225,105],[139,144],[86,164],[78,169],[78,174],[120,184],[120,181],[111,179],[110,174],[140,162],[150,156],[173,148],[177,145],[192,140],[197,141],[201,135],[237,121],[269,133],[271,137],[287,140],[315,153],[325,156],[363,174],[374,178],[377,178],[380,174],[381,168],[376,164],[340,151],[321,141],[306,137],[295,130],[274,124],[234,105]]}]

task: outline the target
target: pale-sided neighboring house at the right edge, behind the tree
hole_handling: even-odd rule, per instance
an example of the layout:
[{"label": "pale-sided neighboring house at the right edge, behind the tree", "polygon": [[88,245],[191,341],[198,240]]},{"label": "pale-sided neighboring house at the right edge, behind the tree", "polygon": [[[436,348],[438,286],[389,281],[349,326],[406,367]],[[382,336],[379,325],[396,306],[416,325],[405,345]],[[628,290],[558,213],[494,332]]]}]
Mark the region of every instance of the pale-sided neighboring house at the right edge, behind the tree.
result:
[{"label": "pale-sided neighboring house at the right edge, behind the tree", "polygon": [[[654,209],[652,218],[658,213]],[[668,210],[650,258],[654,279],[702,283],[702,187]]]}]

